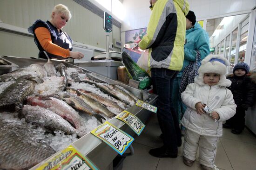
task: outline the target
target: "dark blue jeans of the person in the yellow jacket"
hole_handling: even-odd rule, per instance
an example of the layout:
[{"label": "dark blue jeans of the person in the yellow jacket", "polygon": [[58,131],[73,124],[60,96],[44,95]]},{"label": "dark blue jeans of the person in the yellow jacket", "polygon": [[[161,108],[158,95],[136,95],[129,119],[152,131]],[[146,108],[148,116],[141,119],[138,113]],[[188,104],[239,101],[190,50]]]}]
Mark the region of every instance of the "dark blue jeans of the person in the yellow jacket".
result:
[{"label": "dark blue jeans of the person in the yellow jacket", "polygon": [[179,122],[171,100],[173,81],[177,74],[178,71],[170,69],[151,69],[153,90],[158,95],[157,119],[163,133],[163,145],[170,153],[177,153],[177,144],[181,144]]}]

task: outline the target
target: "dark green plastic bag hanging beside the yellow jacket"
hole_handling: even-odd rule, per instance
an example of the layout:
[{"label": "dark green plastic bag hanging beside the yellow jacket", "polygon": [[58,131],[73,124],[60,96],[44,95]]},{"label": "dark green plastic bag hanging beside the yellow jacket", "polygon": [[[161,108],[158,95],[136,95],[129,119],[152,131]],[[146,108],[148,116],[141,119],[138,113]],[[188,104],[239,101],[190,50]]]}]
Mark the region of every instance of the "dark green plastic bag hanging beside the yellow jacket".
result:
[{"label": "dark green plastic bag hanging beside the yellow jacket", "polygon": [[151,77],[144,69],[141,69],[126,52],[122,52],[122,60],[130,79],[140,82],[140,89],[151,86]]}]

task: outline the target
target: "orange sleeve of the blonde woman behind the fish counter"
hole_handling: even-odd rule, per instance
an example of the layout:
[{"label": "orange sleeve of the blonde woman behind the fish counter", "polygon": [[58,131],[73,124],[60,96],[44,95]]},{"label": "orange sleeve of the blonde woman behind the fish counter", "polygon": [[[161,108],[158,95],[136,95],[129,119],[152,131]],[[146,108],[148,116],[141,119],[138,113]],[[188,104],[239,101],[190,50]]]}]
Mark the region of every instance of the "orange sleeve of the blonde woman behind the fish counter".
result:
[{"label": "orange sleeve of the blonde woman behind the fish counter", "polygon": [[48,53],[64,58],[70,57],[70,51],[68,49],[61,48],[59,45],[56,45],[52,42],[50,32],[47,28],[38,27],[35,29],[34,33],[43,49]]}]

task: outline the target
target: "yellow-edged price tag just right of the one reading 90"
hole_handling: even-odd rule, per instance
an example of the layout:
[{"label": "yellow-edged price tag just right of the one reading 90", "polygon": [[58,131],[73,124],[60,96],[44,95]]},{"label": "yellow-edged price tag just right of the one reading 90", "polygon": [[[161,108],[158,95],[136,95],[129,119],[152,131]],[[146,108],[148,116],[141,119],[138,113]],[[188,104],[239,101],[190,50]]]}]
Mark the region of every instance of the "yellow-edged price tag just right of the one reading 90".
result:
[{"label": "yellow-edged price tag just right of the one reading 90", "polygon": [[130,112],[127,112],[126,110],[115,116],[117,119],[120,119],[124,121],[126,124],[128,124],[132,130],[137,133],[137,135],[140,135],[142,130],[144,129],[145,125],[139,120],[135,115],[133,115]]}]

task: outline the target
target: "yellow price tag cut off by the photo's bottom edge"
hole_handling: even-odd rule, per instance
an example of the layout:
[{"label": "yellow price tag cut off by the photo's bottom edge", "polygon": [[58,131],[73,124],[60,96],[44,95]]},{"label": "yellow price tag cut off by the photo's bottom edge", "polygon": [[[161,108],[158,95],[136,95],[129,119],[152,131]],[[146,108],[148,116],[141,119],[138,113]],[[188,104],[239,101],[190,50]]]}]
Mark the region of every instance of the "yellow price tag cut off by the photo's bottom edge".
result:
[{"label": "yellow price tag cut off by the photo's bottom edge", "polygon": [[88,157],[69,145],[61,153],[42,163],[36,170],[99,170]]}]

